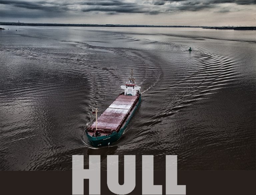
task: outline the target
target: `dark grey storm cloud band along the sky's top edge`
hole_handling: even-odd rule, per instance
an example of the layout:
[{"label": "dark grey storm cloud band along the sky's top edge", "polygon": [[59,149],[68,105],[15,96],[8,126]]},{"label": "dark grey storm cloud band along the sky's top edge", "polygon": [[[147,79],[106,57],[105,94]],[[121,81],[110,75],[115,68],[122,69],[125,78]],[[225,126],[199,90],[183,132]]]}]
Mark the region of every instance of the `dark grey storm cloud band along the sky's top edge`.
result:
[{"label": "dark grey storm cloud band along the sky's top edge", "polygon": [[[107,14],[117,13],[145,13],[160,14],[176,11],[199,11],[216,8],[219,12],[228,12],[229,8],[221,6],[226,3],[239,5],[252,5],[255,0],[1,0],[4,8],[0,10],[1,17],[6,13],[11,15],[22,14],[22,17],[30,16],[29,10],[38,10],[38,14],[79,14],[79,12],[104,12]],[[22,9],[22,10],[20,10]],[[218,10],[217,10],[218,11]]]}]

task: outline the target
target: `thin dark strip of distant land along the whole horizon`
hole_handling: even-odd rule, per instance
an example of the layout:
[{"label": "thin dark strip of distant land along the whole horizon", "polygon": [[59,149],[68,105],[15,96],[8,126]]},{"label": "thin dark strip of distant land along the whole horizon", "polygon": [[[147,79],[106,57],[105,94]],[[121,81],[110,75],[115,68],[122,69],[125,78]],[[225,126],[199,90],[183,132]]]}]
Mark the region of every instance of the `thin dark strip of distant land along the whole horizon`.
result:
[{"label": "thin dark strip of distant land along the whole horizon", "polygon": [[73,27],[164,27],[164,28],[204,28],[221,30],[256,30],[255,26],[249,27],[209,27],[209,26],[179,26],[179,25],[126,25],[126,24],[51,24],[51,23],[19,23],[19,22],[0,22],[0,25],[13,26],[73,26]]}]

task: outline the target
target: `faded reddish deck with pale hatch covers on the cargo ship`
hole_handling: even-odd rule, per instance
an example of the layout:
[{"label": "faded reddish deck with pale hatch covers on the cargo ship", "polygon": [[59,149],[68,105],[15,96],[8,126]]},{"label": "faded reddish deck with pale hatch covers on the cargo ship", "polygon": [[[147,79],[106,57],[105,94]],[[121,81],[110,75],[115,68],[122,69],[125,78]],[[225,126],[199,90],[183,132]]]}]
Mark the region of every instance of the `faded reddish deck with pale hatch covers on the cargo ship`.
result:
[{"label": "faded reddish deck with pale hatch covers on the cargo ship", "polygon": [[[129,115],[138,98],[139,96],[119,95],[97,119],[97,130],[100,131],[101,135],[117,130],[123,119]],[[94,128],[96,128],[96,122],[91,125],[89,130]],[[90,131],[88,133],[93,134]]]}]

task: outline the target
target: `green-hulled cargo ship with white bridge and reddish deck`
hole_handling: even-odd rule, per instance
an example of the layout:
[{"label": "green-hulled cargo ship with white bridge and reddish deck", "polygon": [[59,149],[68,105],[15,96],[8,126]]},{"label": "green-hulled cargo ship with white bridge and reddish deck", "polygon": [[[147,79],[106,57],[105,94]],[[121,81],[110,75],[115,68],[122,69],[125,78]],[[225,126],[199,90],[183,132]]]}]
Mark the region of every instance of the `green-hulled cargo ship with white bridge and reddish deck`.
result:
[{"label": "green-hulled cargo ship with white bridge and reddish deck", "polygon": [[132,70],[129,80],[125,85],[121,85],[124,92],[119,94],[98,119],[97,112],[99,110],[97,108],[94,110],[96,121],[86,129],[90,145],[94,147],[108,146],[121,137],[141,102],[140,88],[136,85]]}]

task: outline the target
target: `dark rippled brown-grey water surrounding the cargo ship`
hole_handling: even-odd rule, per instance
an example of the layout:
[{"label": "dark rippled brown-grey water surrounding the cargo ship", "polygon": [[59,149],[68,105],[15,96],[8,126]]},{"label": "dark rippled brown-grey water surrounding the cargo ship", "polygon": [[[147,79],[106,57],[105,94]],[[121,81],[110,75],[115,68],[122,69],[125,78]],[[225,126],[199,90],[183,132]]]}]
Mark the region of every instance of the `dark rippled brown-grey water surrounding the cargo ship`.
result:
[{"label": "dark rippled brown-grey water surrounding the cargo ship", "polygon": [[[70,170],[76,154],[255,170],[255,31],[1,27],[1,170]],[[112,103],[131,68],[141,105],[118,142],[88,146],[92,108]]]}]

